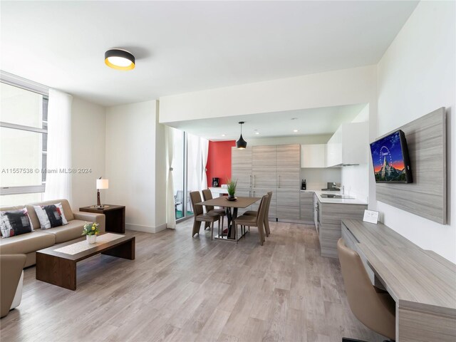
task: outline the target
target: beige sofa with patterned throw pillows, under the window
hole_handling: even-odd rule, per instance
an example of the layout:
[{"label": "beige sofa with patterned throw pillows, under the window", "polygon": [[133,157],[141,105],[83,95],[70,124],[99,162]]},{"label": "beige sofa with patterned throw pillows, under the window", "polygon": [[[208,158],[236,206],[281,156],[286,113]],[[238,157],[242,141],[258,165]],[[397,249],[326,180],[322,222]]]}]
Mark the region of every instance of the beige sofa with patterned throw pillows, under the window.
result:
[{"label": "beige sofa with patterned throw pillows, under the window", "polygon": [[[33,205],[48,205],[62,203],[63,213],[65,214],[68,224],[61,227],[40,229],[40,222],[36,216]],[[81,237],[83,225],[86,222],[97,222],[100,224],[100,232],[105,232],[105,215],[94,214],[91,212],[73,212],[70,204],[66,199],[54,199],[52,201],[31,203],[16,207],[1,207],[1,211],[16,210],[26,207],[28,216],[33,226],[33,232],[0,239],[0,254],[25,254],[26,263],[24,267],[36,263],[35,252],[39,249],[51,247],[54,244],[60,244]]]}]

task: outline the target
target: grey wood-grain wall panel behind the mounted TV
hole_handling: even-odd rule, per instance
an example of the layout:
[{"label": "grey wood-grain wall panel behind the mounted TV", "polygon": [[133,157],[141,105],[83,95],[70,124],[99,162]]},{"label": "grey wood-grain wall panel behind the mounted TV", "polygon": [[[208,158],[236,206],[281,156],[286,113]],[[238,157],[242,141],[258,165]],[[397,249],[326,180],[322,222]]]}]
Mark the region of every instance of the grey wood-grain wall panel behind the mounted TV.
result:
[{"label": "grey wood-grain wall panel behind the mounted TV", "polygon": [[378,201],[440,224],[447,223],[445,118],[442,107],[398,128],[407,139],[413,183],[376,184]]}]

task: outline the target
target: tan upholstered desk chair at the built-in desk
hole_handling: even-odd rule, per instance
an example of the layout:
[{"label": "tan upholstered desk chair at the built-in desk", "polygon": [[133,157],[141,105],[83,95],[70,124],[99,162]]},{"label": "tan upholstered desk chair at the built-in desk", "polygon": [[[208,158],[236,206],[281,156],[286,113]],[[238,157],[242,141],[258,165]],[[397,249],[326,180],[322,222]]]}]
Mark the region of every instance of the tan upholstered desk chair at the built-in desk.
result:
[{"label": "tan upholstered desk chair at the built-in desk", "polygon": [[[371,330],[394,339],[395,301],[388,292],[372,285],[358,253],[346,247],[342,238],[337,242],[337,252],[351,311]],[[343,338],[342,341],[359,340]]]}]

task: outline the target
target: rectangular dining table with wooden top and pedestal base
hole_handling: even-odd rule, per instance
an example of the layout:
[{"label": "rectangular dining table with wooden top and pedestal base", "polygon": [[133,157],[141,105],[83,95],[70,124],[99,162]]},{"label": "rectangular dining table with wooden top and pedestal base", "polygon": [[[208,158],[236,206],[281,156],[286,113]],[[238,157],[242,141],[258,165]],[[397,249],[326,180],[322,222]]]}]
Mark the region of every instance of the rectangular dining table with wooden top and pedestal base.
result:
[{"label": "rectangular dining table with wooden top and pedestal base", "polygon": [[[216,197],[208,199],[207,201],[195,203],[195,205],[209,205],[214,207],[224,207],[227,211],[227,234],[224,234],[224,229],[222,227],[221,234],[217,234],[214,239],[221,239],[224,241],[234,241],[237,242],[239,239],[244,237],[245,230],[240,237],[236,234],[236,227],[234,227],[234,220],[237,218],[237,209],[247,208],[249,205],[258,202],[261,197],[236,197],[236,199],[228,199],[227,196]],[[220,230],[220,229],[219,229]]]}]

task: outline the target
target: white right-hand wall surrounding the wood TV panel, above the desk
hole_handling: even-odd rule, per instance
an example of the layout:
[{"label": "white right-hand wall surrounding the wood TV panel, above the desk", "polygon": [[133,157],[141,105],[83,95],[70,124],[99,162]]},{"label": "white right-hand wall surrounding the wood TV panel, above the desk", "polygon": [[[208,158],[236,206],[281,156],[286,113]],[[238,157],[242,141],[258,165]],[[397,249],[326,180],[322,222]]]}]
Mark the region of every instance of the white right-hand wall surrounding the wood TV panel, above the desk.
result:
[{"label": "white right-hand wall surrounding the wood TV panel, above the desk", "polygon": [[378,135],[447,108],[447,225],[377,202],[385,224],[456,262],[456,25],[454,1],[422,1],[378,63]]}]

